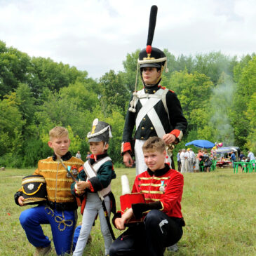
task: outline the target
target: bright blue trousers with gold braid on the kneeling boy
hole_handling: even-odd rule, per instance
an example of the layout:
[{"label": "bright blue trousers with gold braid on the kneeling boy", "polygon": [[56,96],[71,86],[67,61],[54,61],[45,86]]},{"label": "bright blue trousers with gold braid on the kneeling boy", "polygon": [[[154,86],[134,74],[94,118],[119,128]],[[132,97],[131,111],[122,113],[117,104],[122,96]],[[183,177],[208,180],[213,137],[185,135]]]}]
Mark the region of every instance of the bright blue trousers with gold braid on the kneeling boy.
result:
[{"label": "bright blue trousers with gold braid on the kneeling boy", "polygon": [[41,228],[41,224],[50,224],[57,255],[70,253],[76,227],[76,210],[62,211],[52,210],[48,206],[36,206],[20,214],[20,224],[25,230],[29,243],[35,247],[50,245],[50,239],[43,234]]}]

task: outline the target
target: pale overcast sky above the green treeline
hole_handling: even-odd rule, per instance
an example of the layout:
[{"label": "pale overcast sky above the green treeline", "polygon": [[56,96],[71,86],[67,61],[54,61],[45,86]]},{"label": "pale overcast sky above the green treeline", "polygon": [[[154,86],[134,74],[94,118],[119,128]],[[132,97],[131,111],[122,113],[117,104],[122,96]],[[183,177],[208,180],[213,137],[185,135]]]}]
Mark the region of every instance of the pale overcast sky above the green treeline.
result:
[{"label": "pale overcast sky above the green treeline", "polygon": [[154,47],[175,56],[256,52],[255,0],[0,0],[0,40],[100,78],[146,47],[153,4]]}]

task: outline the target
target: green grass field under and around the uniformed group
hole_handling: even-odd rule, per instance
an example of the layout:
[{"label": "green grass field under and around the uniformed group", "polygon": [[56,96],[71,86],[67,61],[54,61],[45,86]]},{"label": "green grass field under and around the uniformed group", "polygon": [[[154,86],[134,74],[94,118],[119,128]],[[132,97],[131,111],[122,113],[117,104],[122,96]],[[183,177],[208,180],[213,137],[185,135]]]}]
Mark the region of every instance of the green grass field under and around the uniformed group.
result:
[{"label": "green grass field under and around the uniformed group", "polygon": [[[0,255],[34,254],[18,220],[20,212],[29,206],[19,207],[13,199],[22,177],[32,173],[32,169],[0,171]],[[118,208],[123,174],[128,175],[131,187],[135,170],[116,169],[117,178],[112,182],[112,191]],[[185,173],[182,213],[187,225],[178,243],[180,250],[166,252],[165,256],[256,255],[256,173],[234,174],[231,169]],[[43,230],[51,238],[48,225],[43,225]],[[104,255],[98,220],[91,234],[93,243],[86,247],[83,255]],[[50,253],[52,255],[55,254]]]}]

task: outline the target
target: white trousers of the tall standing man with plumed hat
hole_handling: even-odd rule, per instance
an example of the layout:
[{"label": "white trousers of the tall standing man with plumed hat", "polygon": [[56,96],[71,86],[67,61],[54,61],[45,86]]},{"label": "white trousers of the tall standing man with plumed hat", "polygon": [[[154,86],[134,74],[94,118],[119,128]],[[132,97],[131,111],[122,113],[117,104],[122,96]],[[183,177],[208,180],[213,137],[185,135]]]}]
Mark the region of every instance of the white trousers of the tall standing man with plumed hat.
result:
[{"label": "white trousers of the tall standing man with plumed hat", "polygon": [[[144,155],[142,151],[142,146],[146,142],[146,140],[135,140],[135,164],[136,164],[136,175],[139,175],[140,173],[143,173],[145,170],[147,170],[146,163],[144,162]],[[168,156],[168,155],[167,155]],[[172,160],[170,159],[170,156],[166,158],[166,163],[172,163]]]}]

